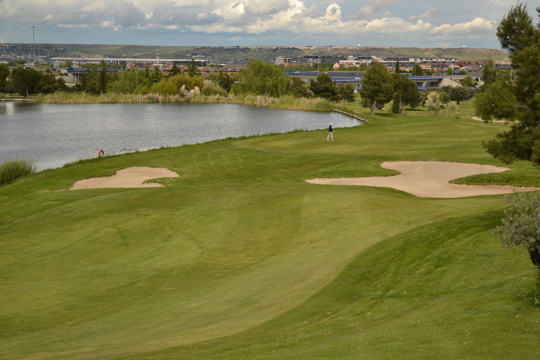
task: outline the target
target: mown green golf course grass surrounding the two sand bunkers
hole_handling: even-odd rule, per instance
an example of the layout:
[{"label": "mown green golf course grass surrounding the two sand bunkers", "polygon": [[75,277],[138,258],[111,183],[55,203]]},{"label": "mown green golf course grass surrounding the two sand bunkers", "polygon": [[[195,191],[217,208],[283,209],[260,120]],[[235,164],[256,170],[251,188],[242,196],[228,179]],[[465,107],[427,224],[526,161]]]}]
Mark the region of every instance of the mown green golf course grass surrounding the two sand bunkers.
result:
[{"label": "mown green golf course grass surrounding the two sand bunkers", "polygon": [[[334,142],[226,139],[0,187],[0,358],[536,358],[535,270],[490,234],[503,196],[304,181],[394,174],[388,160],[502,165],[480,143],[505,125],[468,104],[457,120],[347,107],[370,123]],[[180,176],[58,191],[129,166]],[[473,180],[540,186],[530,164],[512,167]]]}]

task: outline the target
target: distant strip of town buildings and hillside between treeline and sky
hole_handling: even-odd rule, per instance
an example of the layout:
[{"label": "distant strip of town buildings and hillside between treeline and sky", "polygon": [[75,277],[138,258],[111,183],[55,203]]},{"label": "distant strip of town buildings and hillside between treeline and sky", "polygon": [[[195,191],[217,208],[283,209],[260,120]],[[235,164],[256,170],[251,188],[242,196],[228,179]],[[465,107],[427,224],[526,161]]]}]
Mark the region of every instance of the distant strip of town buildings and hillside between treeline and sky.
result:
[{"label": "distant strip of town buildings and hillside between treeline and sky", "polygon": [[[431,55],[431,56],[429,56]],[[449,56],[453,55],[453,56]],[[433,48],[389,46],[147,46],[93,44],[0,44],[0,63],[18,62],[25,66],[48,64],[82,65],[99,63],[125,64],[127,67],[149,66],[167,70],[171,66],[197,64],[206,67],[238,68],[249,59],[261,59],[276,65],[319,66],[325,70],[340,70],[349,66],[378,62],[389,70],[399,61],[400,69],[412,70],[419,64],[426,71],[481,69],[488,59],[497,67],[509,67],[507,53],[497,49]],[[13,65],[13,63],[11,63]],[[321,67],[322,69],[322,67]]]}]

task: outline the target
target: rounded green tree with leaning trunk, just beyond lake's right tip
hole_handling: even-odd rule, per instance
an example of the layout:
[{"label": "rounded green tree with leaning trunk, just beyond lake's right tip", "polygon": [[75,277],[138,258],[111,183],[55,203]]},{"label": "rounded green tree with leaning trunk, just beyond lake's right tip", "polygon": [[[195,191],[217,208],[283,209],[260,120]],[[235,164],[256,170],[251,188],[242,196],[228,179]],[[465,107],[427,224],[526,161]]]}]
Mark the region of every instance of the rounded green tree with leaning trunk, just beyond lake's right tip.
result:
[{"label": "rounded green tree with leaning trunk, just beyond lake's right tip", "polygon": [[366,71],[360,96],[373,104],[371,108],[373,115],[379,105],[384,105],[392,99],[393,90],[392,73],[388,72],[386,66],[375,63]]}]

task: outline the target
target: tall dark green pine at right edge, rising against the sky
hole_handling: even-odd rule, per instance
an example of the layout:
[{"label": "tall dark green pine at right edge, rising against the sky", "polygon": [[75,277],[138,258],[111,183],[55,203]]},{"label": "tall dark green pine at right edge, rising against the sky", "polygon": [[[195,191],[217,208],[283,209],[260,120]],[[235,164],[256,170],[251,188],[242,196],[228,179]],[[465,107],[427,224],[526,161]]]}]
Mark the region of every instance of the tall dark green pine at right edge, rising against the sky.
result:
[{"label": "tall dark green pine at right edge, rising against the sky", "polygon": [[497,26],[497,37],[509,52],[512,73],[488,69],[488,83],[475,99],[476,113],[484,120],[503,117],[517,123],[482,145],[506,164],[523,159],[540,165],[540,23],[534,24],[527,5],[518,2]]}]

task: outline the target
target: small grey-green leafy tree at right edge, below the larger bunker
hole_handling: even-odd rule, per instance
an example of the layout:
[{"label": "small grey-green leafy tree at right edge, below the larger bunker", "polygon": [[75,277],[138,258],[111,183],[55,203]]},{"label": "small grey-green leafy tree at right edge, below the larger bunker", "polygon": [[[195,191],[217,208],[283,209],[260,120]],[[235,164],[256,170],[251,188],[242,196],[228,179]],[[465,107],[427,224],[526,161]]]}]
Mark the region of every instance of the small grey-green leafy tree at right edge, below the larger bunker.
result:
[{"label": "small grey-green leafy tree at right edge, below the larger bunker", "polygon": [[504,198],[512,210],[505,210],[503,225],[493,234],[505,248],[524,247],[540,271],[540,192],[507,194]]}]

